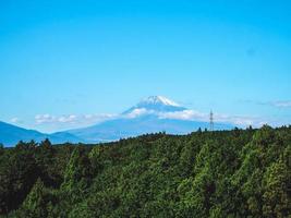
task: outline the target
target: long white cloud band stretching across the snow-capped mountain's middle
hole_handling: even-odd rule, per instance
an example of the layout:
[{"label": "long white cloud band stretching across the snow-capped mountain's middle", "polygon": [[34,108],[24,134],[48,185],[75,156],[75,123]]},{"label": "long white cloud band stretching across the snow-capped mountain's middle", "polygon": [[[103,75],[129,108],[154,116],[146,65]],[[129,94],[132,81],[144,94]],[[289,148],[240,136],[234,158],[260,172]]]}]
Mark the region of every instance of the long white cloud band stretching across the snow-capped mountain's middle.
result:
[{"label": "long white cloud band stretching across the snow-capped mountain's middle", "polygon": [[[159,119],[175,119],[175,120],[187,120],[187,121],[203,121],[209,122],[209,113],[196,111],[196,110],[182,110],[174,112],[158,112],[154,110],[147,110],[145,108],[136,108],[126,114],[64,114],[64,116],[52,116],[52,114],[37,114],[35,116],[36,124],[43,128],[50,128],[51,130],[68,130],[68,129],[78,129],[86,128],[102,121],[112,119],[134,119],[145,114],[155,114]],[[17,119],[14,119],[17,121]],[[264,120],[258,117],[250,116],[231,116],[214,113],[215,123],[230,123],[239,128],[246,128],[252,125],[254,128],[259,128],[263,124],[271,124],[278,126],[279,123],[271,120]]]}]

